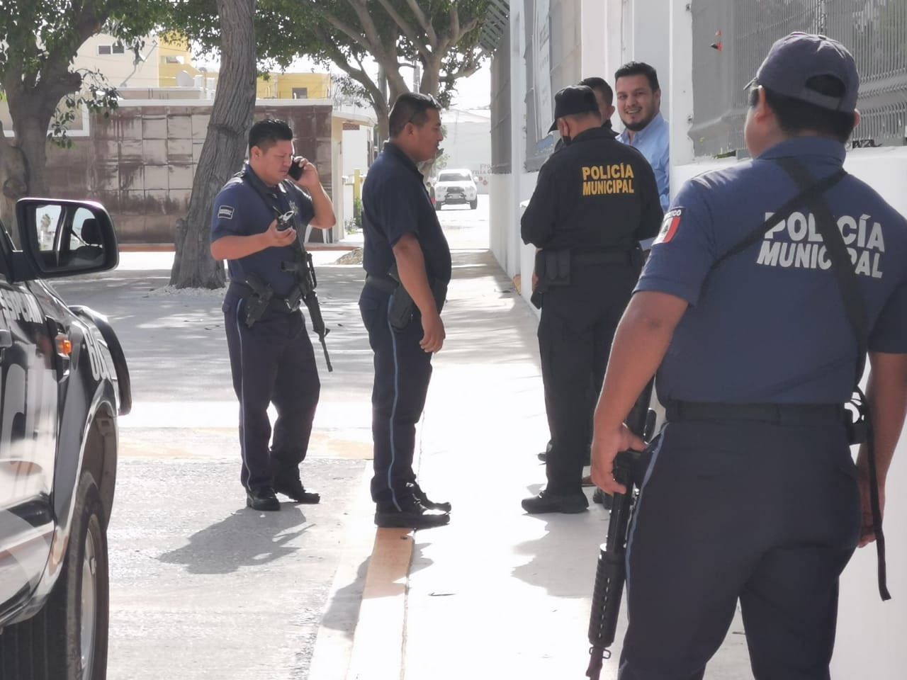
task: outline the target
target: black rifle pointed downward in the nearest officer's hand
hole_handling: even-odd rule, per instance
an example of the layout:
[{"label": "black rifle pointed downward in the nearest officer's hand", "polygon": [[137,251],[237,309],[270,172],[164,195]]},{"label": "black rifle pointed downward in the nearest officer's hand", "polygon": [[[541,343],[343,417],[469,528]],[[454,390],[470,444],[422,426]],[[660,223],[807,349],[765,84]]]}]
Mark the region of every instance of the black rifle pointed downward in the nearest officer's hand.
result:
[{"label": "black rifle pointed downward in the nearest officer's hand", "polygon": [[[627,426],[634,434],[649,442],[655,428],[655,412],[649,409],[652,381],[639,394],[627,417]],[[592,610],[589,620],[590,659],[586,676],[599,680],[603,659],[611,656],[618,627],[620,600],[627,580],[627,535],[642,477],[649,467],[649,457],[643,452],[621,451],[614,459],[614,479],[627,487],[626,493],[615,493],[608,522],[608,539],[600,546],[599,563],[592,590]]]}]

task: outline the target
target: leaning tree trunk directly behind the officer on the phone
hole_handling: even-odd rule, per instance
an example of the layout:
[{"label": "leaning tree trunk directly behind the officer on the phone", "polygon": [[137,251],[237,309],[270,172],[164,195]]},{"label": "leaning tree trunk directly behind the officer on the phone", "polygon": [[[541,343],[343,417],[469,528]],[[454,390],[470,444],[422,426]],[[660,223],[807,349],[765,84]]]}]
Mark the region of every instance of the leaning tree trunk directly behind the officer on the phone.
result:
[{"label": "leaning tree trunk directly behind the officer on the phone", "polygon": [[192,181],[189,213],[178,225],[171,286],[219,288],[223,263],[210,254],[211,207],[218,191],[238,171],[255,113],[255,0],[217,0],[223,47],[218,91],[208,134]]}]

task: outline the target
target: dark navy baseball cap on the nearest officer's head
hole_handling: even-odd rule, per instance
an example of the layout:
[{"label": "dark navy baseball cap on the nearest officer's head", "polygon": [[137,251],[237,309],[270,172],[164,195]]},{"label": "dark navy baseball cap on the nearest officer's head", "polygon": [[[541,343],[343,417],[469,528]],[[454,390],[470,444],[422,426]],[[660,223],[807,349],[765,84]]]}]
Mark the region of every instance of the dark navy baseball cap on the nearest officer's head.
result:
[{"label": "dark navy baseball cap on the nearest officer's head", "polygon": [[[832,97],[807,87],[809,79],[818,75],[844,83],[844,94]],[[853,113],[860,74],[853,54],[843,44],[825,35],[795,32],[775,41],[747,89],[754,84],[823,109]]]}]

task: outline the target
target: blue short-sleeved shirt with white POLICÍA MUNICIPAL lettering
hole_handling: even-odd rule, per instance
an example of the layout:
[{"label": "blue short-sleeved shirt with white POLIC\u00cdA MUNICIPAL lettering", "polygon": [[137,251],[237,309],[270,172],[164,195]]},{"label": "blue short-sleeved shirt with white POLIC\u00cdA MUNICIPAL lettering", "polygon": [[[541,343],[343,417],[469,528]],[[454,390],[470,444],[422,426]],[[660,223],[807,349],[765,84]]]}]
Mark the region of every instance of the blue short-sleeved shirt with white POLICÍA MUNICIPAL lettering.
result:
[{"label": "blue short-sleeved shirt with white POLIC\u00cdA MUNICIPAL lettering", "polygon": [[[841,168],[844,153],[842,144],[827,139],[784,141],[679,191],[636,288],[690,305],[658,372],[662,402],[850,399],[856,340],[808,208],[707,277],[718,257],[800,192],[772,159],[796,158],[819,180]],[[907,221],[851,176],[824,199],[855,262],[869,349],[907,353]]]}]

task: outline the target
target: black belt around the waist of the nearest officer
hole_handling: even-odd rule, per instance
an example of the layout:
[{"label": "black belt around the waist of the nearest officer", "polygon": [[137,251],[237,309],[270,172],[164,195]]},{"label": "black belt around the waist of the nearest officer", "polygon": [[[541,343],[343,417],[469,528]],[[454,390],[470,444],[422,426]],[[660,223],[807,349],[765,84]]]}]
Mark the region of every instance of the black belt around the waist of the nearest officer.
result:
[{"label": "black belt around the waist of the nearest officer", "polygon": [[679,421],[740,420],[766,423],[849,423],[848,412],[839,403],[718,403],[668,402],[665,417]]}]

